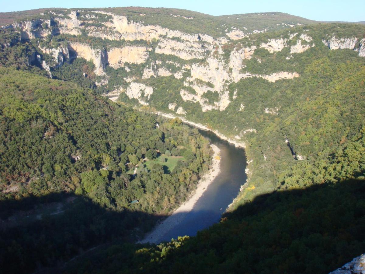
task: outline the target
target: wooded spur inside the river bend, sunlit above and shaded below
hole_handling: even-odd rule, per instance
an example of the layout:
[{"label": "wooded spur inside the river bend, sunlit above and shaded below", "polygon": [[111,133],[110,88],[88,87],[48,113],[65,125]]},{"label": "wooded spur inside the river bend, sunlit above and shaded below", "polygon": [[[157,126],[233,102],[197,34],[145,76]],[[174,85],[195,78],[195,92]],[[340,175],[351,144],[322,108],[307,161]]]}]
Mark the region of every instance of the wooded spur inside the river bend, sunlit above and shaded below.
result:
[{"label": "wooded spur inside the river bend, sunlit above and shaded below", "polygon": [[156,120],[74,83],[0,68],[0,96],[0,257],[9,272],[141,237],[211,162],[208,142],[180,120]]}]

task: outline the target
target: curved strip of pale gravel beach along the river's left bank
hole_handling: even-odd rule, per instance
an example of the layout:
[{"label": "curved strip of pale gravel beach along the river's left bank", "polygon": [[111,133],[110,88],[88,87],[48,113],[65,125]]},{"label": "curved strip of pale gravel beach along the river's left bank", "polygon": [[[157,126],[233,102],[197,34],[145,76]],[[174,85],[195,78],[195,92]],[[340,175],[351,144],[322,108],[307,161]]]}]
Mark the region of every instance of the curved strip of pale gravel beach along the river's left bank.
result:
[{"label": "curved strip of pale gravel beach along the river's left bank", "polygon": [[[187,214],[193,209],[197,200],[203,195],[209,184],[218,176],[220,169],[220,149],[216,145],[210,145],[214,151],[212,156],[212,168],[200,180],[197,189],[193,196],[176,209],[169,217],[167,217],[161,224],[158,224],[152,232],[145,236],[145,239],[138,241],[138,243],[160,243],[166,233],[178,225]],[[216,157],[218,156],[218,157]]]}]

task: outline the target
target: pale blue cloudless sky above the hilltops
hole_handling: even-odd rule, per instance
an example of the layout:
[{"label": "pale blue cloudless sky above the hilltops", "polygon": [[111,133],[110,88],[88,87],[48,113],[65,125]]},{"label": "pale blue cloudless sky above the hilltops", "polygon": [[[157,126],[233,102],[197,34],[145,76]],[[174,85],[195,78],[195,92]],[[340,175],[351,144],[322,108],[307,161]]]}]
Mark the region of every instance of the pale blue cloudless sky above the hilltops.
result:
[{"label": "pale blue cloudless sky above the hilltops", "polygon": [[36,8],[97,8],[97,7],[165,7],[182,8],[211,15],[280,11],[312,20],[364,21],[365,0],[0,0],[0,12]]}]

